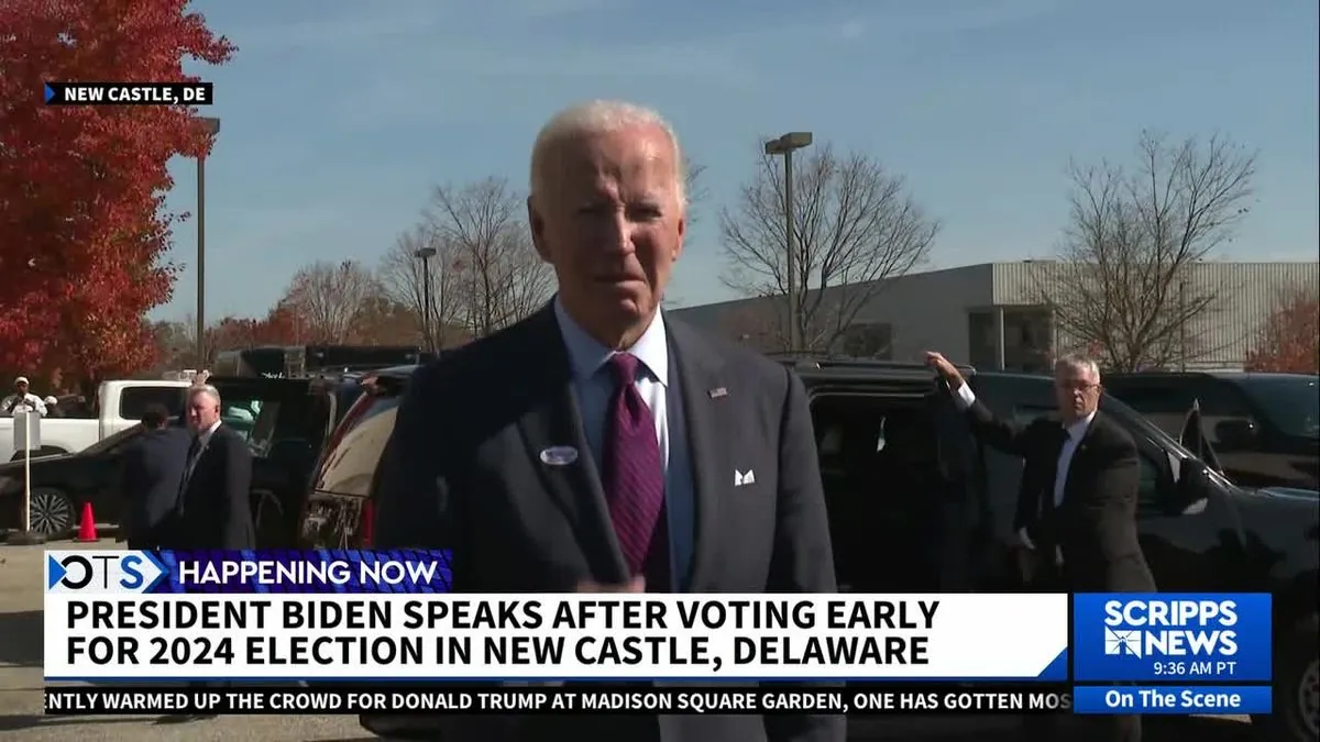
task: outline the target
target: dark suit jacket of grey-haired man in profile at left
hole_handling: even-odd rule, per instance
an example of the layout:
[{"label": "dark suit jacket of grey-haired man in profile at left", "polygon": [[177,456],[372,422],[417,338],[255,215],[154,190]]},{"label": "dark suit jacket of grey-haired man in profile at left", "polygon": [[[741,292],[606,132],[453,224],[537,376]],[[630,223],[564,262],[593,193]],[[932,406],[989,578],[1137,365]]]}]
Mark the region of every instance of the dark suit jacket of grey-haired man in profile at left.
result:
[{"label": "dark suit jacket of grey-haired man in profile at left", "polygon": [[255,549],[251,490],[252,449],[222,424],[183,486],[180,527],[170,548]]}]

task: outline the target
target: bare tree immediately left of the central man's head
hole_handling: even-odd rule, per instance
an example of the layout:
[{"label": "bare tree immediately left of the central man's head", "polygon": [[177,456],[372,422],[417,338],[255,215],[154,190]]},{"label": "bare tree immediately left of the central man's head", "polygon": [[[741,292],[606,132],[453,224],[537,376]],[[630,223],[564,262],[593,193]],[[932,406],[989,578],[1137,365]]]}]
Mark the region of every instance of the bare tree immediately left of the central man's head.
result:
[{"label": "bare tree immediately left of the central man's head", "polygon": [[554,273],[532,247],[524,198],[503,178],[437,187],[429,226],[449,247],[454,317],[475,337],[536,312],[554,290]]}]

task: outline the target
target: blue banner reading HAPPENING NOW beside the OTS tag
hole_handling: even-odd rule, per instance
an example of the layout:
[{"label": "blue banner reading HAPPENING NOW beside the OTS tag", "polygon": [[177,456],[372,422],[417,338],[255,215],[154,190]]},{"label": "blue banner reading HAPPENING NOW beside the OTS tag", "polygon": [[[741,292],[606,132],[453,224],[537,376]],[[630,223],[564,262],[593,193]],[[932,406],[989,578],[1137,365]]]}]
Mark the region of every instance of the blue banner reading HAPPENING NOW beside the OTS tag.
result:
[{"label": "blue banner reading HAPPENING NOW beside the OTS tag", "polygon": [[449,552],[174,551],[152,593],[447,593]]}]

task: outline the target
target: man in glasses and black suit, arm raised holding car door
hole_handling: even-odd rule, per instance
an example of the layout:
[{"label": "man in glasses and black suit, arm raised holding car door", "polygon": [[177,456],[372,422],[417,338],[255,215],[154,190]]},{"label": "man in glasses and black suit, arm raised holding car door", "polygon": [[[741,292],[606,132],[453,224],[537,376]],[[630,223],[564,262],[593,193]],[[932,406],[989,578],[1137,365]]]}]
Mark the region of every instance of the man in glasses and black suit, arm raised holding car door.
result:
[{"label": "man in glasses and black suit, arm raised holding car door", "polygon": [[[1065,356],[1055,363],[1059,419],[1038,417],[1026,426],[999,420],[977,401],[962,374],[939,353],[928,353],[927,363],[948,382],[982,442],[1026,461],[1014,545],[1024,557],[1028,585],[1041,591],[1155,591],[1137,540],[1137,444],[1098,409],[1096,362]],[[1137,716],[1085,717],[1082,724],[1097,742],[1142,737]],[[1028,733],[1039,739],[1055,737],[1035,725]]]}]

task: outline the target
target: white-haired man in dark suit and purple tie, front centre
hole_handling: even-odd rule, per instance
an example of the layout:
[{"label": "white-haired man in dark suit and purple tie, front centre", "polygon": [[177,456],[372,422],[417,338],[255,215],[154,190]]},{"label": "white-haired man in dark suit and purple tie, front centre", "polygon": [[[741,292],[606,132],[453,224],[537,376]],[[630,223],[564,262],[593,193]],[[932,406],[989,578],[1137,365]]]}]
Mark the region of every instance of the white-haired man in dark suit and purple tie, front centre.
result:
[{"label": "white-haired man in dark suit and purple tie, front centre", "polygon": [[[451,549],[455,591],[833,593],[801,382],[660,312],[686,227],[672,128],[626,103],[572,107],[537,137],[531,181],[558,293],[417,371],[378,547]],[[466,724],[453,738],[843,738],[813,714]]]}]

